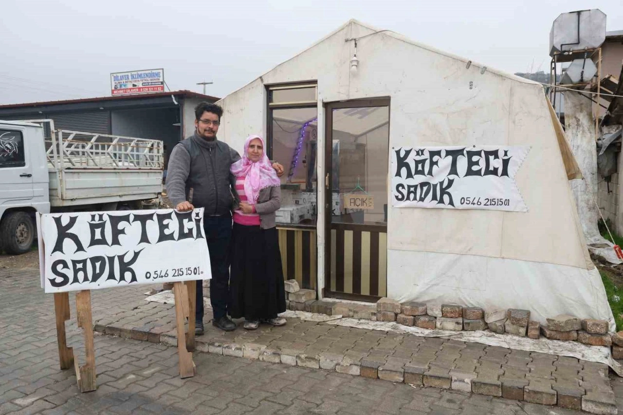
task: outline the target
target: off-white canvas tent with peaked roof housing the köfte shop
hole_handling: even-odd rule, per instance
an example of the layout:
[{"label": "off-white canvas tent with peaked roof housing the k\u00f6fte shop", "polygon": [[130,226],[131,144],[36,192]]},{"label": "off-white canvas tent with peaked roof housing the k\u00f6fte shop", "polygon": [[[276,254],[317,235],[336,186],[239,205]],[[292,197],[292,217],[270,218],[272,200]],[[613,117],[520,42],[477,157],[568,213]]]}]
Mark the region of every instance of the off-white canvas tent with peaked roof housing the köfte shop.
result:
[{"label": "off-white canvas tent with peaked roof housing the k\u00f6fte shop", "polygon": [[[350,70],[354,42],[359,59]],[[578,171],[540,84],[349,21],[292,59],[227,95],[219,138],[237,150],[267,131],[266,85],[316,80],[318,148],[328,102],[389,97],[389,147],[530,146],[516,174],[527,212],[397,208],[389,203],[387,296],[401,302],[525,308],[611,322],[587,253],[568,178]],[[318,177],[325,177],[318,151]],[[389,181],[389,172],[388,172]],[[323,199],[323,186],[318,200]],[[318,204],[318,217],[325,209]],[[318,220],[318,264],[326,229]],[[318,265],[319,295],[325,267]]]}]

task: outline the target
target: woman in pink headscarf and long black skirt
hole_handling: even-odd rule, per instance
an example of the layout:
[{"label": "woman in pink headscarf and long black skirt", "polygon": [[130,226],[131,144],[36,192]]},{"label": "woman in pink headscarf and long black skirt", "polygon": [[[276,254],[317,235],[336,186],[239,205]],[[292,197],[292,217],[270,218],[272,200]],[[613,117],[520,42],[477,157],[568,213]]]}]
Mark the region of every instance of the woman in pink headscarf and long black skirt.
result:
[{"label": "woman in pink headscarf and long black skirt", "polygon": [[[281,206],[277,173],[264,151],[264,140],[252,135],[242,159],[231,166],[239,196],[234,211],[229,291],[232,318],[245,318],[244,328],[260,323],[285,325],[285,290],[275,211]],[[238,201],[238,199],[237,199]]]}]

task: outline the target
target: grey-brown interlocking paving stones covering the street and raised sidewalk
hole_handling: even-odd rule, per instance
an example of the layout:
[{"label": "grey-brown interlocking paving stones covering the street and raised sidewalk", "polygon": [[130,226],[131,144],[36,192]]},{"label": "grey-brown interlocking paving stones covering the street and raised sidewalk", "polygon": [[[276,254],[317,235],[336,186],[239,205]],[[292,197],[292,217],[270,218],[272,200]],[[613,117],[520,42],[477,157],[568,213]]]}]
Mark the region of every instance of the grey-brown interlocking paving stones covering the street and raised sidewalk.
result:
[{"label": "grey-brown interlocking paving stones covering the street and raised sidewalk", "polygon": [[[38,274],[36,267],[24,270],[0,269],[0,415],[581,413],[525,401],[411,386],[397,381],[213,353],[194,353],[197,375],[179,379],[175,348],[110,335],[95,336],[97,391],[80,393],[75,385],[73,371],[59,369],[53,297],[45,295],[40,289]],[[128,327],[147,330],[150,326],[150,330],[153,330],[158,327],[156,320],[164,322],[160,327],[166,326],[167,319],[173,317],[173,310],[168,305],[146,303],[143,292],[147,289],[149,287],[142,286],[93,291],[94,319],[99,320],[100,324],[107,323],[108,319],[106,327],[123,322],[122,325],[117,324],[120,331]],[[83,362],[82,333],[75,325],[74,296],[70,295],[70,298],[72,322],[67,323],[68,341],[74,347],[78,360]],[[339,330],[334,334],[334,329]],[[120,334],[131,336],[140,333],[138,330],[128,330]],[[166,333],[162,332],[162,335],[166,337]],[[327,333],[330,334],[327,336]],[[329,341],[331,335],[335,338]],[[432,368],[440,368],[430,370],[431,381],[435,381],[435,374],[444,372],[445,366],[450,363],[456,368],[457,358],[462,358],[465,371],[472,370],[471,366],[467,368],[470,365],[467,358],[463,358],[468,353],[462,354],[461,351],[470,350],[473,356],[478,355],[485,361],[488,359],[494,368],[497,368],[499,360],[505,359],[505,364],[508,364],[509,358],[515,356],[500,348],[485,350],[484,346],[481,348],[472,343],[461,346],[457,345],[458,342],[439,339],[412,340],[392,333],[331,327],[298,320],[289,320],[280,332],[264,328],[249,333],[240,329],[226,335],[209,327],[202,338],[212,339],[209,340],[212,343],[216,338],[230,342],[244,340],[244,343],[252,340],[255,344],[262,344],[266,340],[267,344],[273,346],[277,346],[277,343],[272,342],[280,341],[281,351],[287,350],[286,346],[289,346],[292,352],[311,352],[328,346],[326,350],[333,350],[336,355],[351,352],[353,360],[356,360],[355,353],[361,355],[367,350],[368,360],[372,360],[371,355],[379,360],[382,360],[381,355],[385,356],[384,366],[388,366],[388,378],[397,376],[394,372],[400,366],[399,359],[407,360],[408,355],[409,362],[414,362],[412,356],[416,350],[419,351],[416,355],[420,356],[430,353],[435,362]],[[153,336],[151,340],[155,340]],[[406,347],[409,344],[417,348],[409,349]],[[377,353],[371,354],[373,349]],[[386,350],[387,353],[379,353],[379,350]],[[480,351],[483,355],[480,355]],[[552,360],[554,356],[546,356],[537,356],[536,360],[538,363],[551,360],[552,366],[558,361]],[[393,360],[389,360],[389,357]],[[510,361],[523,364],[521,358],[525,359],[525,356],[513,357]],[[564,363],[574,366],[574,361]],[[579,362],[578,365],[584,370],[583,365]],[[529,371],[532,370],[530,366],[543,367],[526,363]],[[549,365],[546,366],[545,370],[537,368],[533,371],[535,379],[549,376]],[[614,390],[617,406],[623,408],[621,379],[613,378],[612,381],[607,380],[607,383]],[[535,386],[541,384],[535,383]]]}]

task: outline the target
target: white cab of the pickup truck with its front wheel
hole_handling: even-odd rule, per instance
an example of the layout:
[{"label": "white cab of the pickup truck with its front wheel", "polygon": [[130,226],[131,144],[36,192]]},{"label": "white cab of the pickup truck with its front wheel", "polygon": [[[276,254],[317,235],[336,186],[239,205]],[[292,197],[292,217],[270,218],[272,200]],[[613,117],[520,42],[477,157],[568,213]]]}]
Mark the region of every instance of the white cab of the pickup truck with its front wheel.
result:
[{"label": "white cab of the pickup truck with its front wheel", "polygon": [[0,121],[0,249],[9,254],[31,249],[35,212],[50,212],[44,128]]}]

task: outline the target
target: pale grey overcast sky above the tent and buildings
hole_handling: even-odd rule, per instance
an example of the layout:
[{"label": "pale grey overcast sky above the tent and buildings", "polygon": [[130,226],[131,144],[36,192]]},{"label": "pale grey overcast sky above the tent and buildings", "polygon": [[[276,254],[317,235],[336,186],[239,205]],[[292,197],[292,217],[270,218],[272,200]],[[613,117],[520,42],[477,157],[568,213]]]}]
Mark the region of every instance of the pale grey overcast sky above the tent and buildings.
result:
[{"label": "pale grey overcast sky above the tent and buildings", "polygon": [[224,97],[351,18],[506,72],[548,70],[562,12],[621,0],[21,0],[0,5],[0,103],[107,96],[110,73],[164,68],[171,90]]}]

